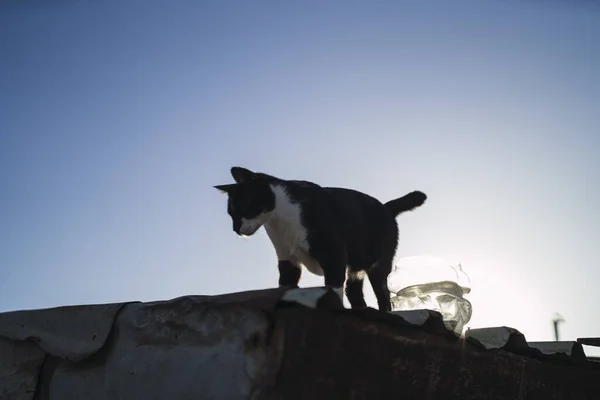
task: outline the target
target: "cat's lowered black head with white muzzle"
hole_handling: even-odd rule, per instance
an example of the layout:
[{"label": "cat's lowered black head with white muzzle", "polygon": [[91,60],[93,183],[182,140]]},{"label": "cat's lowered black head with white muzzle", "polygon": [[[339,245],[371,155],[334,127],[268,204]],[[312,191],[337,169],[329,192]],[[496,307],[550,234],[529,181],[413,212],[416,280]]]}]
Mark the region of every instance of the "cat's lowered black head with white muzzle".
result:
[{"label": "cat's lowered black head with white muzzle", "polygon": [[246,168],[231,168],[236,183],[217,185],[227,194],[227,213],[233,222],[233,231],[240,236],[250,236],[263,226],[275,208],[275,195],[263,174]]}]

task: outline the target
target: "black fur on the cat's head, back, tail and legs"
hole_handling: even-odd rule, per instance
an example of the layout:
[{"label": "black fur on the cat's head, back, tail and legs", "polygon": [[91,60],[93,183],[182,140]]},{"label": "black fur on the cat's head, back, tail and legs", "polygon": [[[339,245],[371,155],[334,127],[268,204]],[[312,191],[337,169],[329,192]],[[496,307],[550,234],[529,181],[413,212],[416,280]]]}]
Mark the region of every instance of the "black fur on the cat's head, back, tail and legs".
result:
[{"label": "black fur on the cat's head, back, tail and legs", "polygon": [[[398,243],[395,218],[424,204],[424,193],[414,191],[382,204],[356,190],[283,180],[241,167],[233,167],[231,175],[237,183],[215,187],[229,196],[227,210],[236,233],[240,234],[242,218],[252,219],[273,211],[276,199],[272,187],[284,187],[292,202],[301,206],[309,255],[323,270],[325,285],[341,288],[346,273],[365,271],[379,309],[390,310],[387,276]],[[297,261],[280,259],[279,273],[280,285],[298,285],[301,270]],[[345,293],[352,308],[366,306],[361,279],[348,279]]]}]

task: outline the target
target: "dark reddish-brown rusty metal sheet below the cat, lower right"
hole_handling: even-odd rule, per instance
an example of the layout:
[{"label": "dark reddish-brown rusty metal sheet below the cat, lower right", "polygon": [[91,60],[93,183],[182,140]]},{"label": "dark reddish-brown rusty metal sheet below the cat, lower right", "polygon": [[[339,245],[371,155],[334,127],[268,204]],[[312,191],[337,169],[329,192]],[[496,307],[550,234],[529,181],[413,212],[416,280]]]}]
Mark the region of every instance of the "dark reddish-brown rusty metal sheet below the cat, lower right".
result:
[{"label": "dark reddish-brown rusty metal sheet below the cat, lower right", "polygon": [[588,365],[489,351],[350,313],[295,307],[278,320],[285,341],[277,393],[286,400],[595,400],[600,393],[600,369]]}]

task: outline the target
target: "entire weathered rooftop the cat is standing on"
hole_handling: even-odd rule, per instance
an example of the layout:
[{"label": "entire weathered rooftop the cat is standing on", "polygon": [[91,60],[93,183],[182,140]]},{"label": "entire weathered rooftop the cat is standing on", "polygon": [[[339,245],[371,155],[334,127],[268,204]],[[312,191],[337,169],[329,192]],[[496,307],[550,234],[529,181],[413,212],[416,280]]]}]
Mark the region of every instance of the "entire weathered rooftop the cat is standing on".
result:
[{"label": "entire weathered rooftop the cat is standing on", "polygon": [[0,313],[4,399],[596,399],[577,342],[459,337],[324,288]]}]

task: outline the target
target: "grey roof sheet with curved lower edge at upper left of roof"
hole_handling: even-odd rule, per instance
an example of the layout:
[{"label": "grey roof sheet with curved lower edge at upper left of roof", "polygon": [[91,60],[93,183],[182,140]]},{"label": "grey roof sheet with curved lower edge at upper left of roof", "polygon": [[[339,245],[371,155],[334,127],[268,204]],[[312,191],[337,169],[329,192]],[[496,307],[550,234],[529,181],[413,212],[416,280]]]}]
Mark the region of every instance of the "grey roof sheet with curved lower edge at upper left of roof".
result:
[{"label": "grey roof sheet with curved lower edge at upper left of roof", "polygon": [[0,313],[0,337],[30,340],[72,361],[96,353],[124,303],[66,306]]}]

